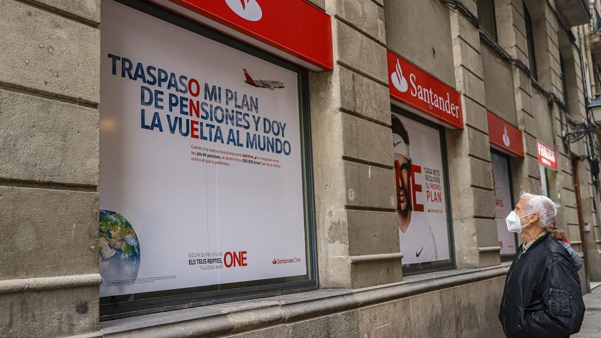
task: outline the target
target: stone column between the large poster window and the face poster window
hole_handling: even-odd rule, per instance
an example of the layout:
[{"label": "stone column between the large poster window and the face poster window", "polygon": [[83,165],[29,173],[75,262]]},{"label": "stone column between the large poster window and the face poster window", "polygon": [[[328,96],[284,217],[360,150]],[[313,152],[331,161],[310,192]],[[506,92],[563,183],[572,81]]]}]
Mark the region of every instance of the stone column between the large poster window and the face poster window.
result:
[{"label": "stone column between the large poster window and the face poster window", "polygon": [[334,71],[310,74],[320,286],[401,280],[382,0],[326,0]]}]

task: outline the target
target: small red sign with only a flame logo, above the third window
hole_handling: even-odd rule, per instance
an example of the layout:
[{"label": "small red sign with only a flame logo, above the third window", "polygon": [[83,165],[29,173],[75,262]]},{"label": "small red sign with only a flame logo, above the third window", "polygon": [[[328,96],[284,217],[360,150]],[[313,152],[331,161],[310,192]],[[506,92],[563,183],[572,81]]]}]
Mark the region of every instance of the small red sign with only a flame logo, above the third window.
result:
[{"label": "small red sign with only a flame logo, above the third window", "polygon": [[510,155],[524,157],[522,131],[488,110],[486,114],[490,145]]}]

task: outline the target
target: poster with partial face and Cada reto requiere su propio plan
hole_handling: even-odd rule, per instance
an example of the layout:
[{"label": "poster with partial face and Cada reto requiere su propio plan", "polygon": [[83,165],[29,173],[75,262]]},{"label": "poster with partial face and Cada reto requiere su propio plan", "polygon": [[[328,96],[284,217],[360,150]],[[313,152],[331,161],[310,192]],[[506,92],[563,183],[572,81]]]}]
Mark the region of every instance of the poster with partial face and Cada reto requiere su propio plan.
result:
[{"label": "poster with partial face and Cada reto requiere su propio plan", "polygon": [[403,264],[450,259],[438,129],[392,113],[398,236]]}]

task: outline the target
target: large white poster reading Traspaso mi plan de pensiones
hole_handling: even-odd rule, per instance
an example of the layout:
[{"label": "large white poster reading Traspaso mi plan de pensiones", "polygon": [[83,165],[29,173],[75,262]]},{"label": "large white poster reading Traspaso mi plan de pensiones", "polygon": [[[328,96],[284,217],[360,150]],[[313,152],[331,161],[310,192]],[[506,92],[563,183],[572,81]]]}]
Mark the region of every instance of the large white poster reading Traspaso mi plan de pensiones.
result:
[{"label": "large white poster reading Traspaso mi plan de pensiones", "polygon": [[307,274],[298,74],[102,1],[102,297]]}]

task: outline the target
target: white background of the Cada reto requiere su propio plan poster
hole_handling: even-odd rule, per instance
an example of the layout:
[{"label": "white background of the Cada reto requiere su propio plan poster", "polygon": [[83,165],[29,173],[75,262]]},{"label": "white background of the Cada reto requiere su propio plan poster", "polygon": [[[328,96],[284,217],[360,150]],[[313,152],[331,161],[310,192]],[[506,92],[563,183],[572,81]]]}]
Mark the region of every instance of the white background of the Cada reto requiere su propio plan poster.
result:
[{"label": "white background of the Cada reto requiere su propio plan poster", "polygon": [[[421,167],[415,176],[415,185],[421,185],[421,192],[415,190],[415,202],[424,205],[424,212],[412,210],[411,221],[406,232],[399,229],[400,250],[403,264],[435,262],[450,259],[447,219],[447,195],[442,167],[441,138],[438,129],[392,113],[400,118],[409,134],[409,152],[412,165]],[[437,170],[440,178],[441,201],[427,199],[426,168]],[[432,192],[432,189],[430,189]],[[438,192],[438,191],[437,191]],[[413,192],[411,193],[413,195]],[[411,197],[413,200],[413,197]],[[412,203],[415,203],[412,202]]]}]

